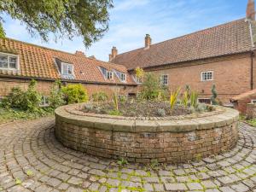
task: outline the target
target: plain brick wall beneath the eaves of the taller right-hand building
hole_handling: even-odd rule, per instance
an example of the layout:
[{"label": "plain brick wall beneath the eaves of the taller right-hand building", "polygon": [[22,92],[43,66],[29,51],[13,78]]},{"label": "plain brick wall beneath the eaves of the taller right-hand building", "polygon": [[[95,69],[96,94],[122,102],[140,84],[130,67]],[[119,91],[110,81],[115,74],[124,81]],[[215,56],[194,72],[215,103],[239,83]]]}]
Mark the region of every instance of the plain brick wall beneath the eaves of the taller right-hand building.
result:
[{"label": "plain brick wall beneath the eaves of the taller right-hand building", "polygon": [[[255,64],[254,64],[255,65]],[[202,82],[201,72],[213,71],[213,80]],[[251,89],[251,57],[250,54],[218,57],[194,62],[184,62],[166,67],[146,69],[146,72],[157,75],[168,74],[169,89],[184,87],[197,90],[202,98],[212,96],[212,84],[216,84],[218,98],[230,103],[230,98]],[[256,67],[254,67],[254,85],[256,85]],[[256,87],[256,86],[255,86]]]}]

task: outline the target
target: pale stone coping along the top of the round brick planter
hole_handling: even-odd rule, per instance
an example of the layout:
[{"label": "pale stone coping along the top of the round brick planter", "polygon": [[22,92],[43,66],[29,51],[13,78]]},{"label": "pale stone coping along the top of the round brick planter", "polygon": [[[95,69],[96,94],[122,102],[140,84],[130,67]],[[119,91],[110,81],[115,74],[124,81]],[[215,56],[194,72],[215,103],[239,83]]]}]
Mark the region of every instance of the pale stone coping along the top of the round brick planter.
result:
[{"label": "pale stone coping along the top of the round brick planter", "polygon": [[[189,132],[207,130],[230,125],[239,119],[239,112],[231,108],[216,107],[216,111],[201,113],[190,119],[119,119],[109,115],[84,115],[79,111],[83,105],[74,104],[55,110],[55,116],[61,121],[73,125],[86,126],[106,131],[123,132]],[[80,112],[80,113],[79,113]],[[86,114],[86,113],[85,113]],[[205,114],[205,115],[204,115]]]}]

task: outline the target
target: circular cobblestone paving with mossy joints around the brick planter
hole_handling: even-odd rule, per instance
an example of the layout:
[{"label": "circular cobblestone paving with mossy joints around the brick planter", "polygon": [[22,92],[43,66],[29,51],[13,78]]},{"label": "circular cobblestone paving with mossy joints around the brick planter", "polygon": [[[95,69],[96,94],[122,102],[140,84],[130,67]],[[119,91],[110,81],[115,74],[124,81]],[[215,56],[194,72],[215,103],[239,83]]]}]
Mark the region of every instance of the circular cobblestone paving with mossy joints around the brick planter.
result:
[{"label": "circular cobblestone paving with mossy joints around the brick planter", "polygon": [[182,165],[117,166],[64,148],[54,124],[0,126],[0,191],[256,191],[256,128],[248,125],[240,125],[229,153]]}]

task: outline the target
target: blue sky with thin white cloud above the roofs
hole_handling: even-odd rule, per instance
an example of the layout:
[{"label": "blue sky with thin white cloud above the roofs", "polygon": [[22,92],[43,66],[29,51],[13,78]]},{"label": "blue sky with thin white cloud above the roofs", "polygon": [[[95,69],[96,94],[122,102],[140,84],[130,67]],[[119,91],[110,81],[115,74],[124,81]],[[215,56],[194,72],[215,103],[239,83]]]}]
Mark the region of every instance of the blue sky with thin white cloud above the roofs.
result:
[{"label": "blue sky with thin white cloud above the roofs", "polygon": [[113,46],[119,53],[143,47],[145,34],[153,44],[199,31],[211,26],[245,17],[247,0],[114,0],[110,10],[109,31],[89,49],[82,38],[58,40],[48,43],[38,36],[31,37],[19,20],[4,16],[7,37],[74,53],[82,50],[86,55],[108,61]]}]

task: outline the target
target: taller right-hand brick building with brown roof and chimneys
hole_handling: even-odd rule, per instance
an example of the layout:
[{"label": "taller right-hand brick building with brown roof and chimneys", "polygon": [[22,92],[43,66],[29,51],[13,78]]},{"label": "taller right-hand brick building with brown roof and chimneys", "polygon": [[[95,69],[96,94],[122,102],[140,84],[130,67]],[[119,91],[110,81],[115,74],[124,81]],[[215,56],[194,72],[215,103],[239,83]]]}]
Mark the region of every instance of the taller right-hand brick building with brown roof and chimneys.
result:
[{"label": "taller right-hand brick building with brown roof and chimneys", "polygon": [[[210,102],[212,84],[224,105],[243,92],[256,88],[254,1],[247,4],[247,18],[200,32],[152,44],[146,35],[143,48],[119,54],[115,47],[109,61],[156,73],[170,90],[190,85]],[[135,78],[136,79],[136,78]]]}]

